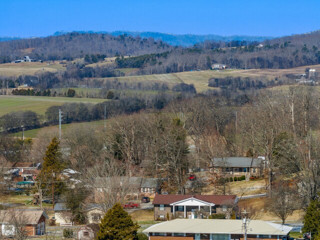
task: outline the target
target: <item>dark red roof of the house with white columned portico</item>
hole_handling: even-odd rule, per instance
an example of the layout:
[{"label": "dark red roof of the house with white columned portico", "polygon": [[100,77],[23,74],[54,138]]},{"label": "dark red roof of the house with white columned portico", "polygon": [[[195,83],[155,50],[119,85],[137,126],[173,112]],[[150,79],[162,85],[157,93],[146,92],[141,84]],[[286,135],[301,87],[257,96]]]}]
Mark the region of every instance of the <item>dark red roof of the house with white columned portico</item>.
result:
[{"label": "dark red roof of the house with white columned portico", "polygon": [[170,204],[190,197],[216,205],[230,204],[237,200],[236,195],[181,195],[181,194],[155,194],[152,204]]}]

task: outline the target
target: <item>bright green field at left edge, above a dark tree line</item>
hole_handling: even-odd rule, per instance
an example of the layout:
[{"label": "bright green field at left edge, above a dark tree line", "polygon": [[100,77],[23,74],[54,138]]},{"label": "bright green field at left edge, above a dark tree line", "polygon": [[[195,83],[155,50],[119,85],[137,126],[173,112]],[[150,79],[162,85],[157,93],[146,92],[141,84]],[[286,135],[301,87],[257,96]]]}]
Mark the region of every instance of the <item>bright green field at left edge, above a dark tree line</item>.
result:
[{"label": "bright green field at left edge, above a dark tree line", "polygon": [[103,101],[106,101],[106,99],[0,95],[0,116],[18,110],[32,110],[38,114],[44,114],[49,106],[62,105],[65,102],[98,103]]}]

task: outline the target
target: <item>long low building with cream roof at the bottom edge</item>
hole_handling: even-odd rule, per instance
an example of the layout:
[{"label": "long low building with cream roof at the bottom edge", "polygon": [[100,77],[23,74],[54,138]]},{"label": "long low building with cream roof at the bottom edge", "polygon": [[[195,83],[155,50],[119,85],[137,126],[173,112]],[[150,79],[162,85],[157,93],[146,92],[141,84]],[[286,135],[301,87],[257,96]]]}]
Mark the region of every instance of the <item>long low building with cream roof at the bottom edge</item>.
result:
[{"label": "long low building with cream roof at the bottom edge", "polygon": [[[247,227],[248,240],[282,239],[292,227],[262,220],[251,220]],[[244,224],[233,219],[174,219],[154,224],[143,232],[149,240],[243,240]]]}]

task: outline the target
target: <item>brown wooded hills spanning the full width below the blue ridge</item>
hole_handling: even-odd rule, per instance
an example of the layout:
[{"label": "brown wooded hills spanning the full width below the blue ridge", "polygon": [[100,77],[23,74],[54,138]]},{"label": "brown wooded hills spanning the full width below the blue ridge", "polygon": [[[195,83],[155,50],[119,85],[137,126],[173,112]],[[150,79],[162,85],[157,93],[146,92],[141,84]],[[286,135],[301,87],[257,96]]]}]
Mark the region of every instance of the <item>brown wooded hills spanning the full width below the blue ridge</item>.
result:
[{"label": "brown wooded hills spanning the full width below the blue ridge", "polygon": [[[170,73],[208,69],[214,62],[230,68],[290,68],[320,63],[320,31],[257,41],[204,41],[192,47],[173,47],[161,40],[139,36],[80,34],[76,32],[44,38],[0,42],[0,63],[26,53],[35,59],[58,60],[94,55],[97,60],[118,58],[118,67],[138,67],[137,74]],[[94,62],[94,61],[93,61]],[[90,62],[88,62],[90,63]]]}]

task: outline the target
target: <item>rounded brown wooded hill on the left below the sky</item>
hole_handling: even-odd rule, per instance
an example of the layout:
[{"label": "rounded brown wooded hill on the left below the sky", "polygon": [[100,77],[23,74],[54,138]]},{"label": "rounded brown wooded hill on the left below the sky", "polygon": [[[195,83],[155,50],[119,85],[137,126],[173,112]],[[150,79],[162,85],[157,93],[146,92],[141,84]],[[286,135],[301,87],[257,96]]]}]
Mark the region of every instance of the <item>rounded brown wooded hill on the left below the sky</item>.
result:
[{"label": "rounded brown wooded hill on the left below the sky", "polygon": [[[20,59],[26,53],[35,59],[58,60],[84,57],[86,54],[141,55],[162,52],[172,47],[152,38],[126,35],[80,34],[35,37],[0,42],[0,63]],[[27,49],[27,50],[26,50]]]}]

